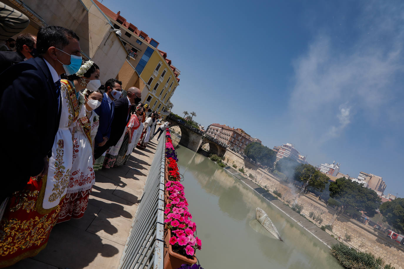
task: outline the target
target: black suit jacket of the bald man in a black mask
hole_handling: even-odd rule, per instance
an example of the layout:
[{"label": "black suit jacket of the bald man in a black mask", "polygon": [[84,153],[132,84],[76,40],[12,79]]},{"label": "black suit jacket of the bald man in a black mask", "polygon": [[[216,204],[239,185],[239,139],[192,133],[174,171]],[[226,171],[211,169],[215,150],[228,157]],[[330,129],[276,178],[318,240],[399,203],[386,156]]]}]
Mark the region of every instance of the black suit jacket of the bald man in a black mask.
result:
[{"label": "black suit jacket of the bald man in a black mask", "polygon": [[124,133],[126,124],[128,124],[129,101],[127,97],[115,101],[114,119],[111,125],[111,134],[109,135],[108,145],[115,146]]}]

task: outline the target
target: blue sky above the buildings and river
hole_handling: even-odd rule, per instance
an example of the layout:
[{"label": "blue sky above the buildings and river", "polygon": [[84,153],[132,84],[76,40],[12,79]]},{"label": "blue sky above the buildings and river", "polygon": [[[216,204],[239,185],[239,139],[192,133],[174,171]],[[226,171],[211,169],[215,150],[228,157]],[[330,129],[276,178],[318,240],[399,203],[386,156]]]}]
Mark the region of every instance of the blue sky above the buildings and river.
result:
[{"label": "blue sky above the buildings and river", "polygon": [[403,1],[104,0],[181,70],[173,112],[404,197]]}]

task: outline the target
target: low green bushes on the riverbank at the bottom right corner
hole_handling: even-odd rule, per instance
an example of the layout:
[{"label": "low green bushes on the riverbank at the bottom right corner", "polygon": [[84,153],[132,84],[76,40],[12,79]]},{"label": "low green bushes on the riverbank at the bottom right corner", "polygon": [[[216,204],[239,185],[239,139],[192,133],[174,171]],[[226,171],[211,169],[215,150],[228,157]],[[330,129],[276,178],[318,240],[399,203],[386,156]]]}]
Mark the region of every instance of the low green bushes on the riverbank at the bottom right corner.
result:
[{"label": "low green bushes on the riverbank at the bottom right corner", "polygon": [[383,265],[381,258],[375,258],[370,253],[360,252],[354,248],[349,248],[344,244],[335,244],[331,247],[331,253],[339,263],[348,269],[393,269],[391,265]]}]

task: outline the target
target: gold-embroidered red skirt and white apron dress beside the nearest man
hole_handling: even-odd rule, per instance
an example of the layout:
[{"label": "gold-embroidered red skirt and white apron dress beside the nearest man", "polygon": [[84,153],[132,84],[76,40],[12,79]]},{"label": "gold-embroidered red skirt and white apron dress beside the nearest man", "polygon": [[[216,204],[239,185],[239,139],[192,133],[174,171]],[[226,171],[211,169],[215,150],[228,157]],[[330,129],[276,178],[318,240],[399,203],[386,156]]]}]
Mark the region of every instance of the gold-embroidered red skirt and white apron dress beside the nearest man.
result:
[{"label": "gold-embroidered red skirt and white apron dress beside the nearest man", "polygon": [[76,98],[74,85],[64,79],[61,80],[61,104],[48,175],[31,177],[23,190],[15,192],[0,221],[0,267],[35,256],[45,248],[59,216],[59,202],[66,194],[72,169],[73,141],[69,128],[72,129],[78,117],[85,113]]}]

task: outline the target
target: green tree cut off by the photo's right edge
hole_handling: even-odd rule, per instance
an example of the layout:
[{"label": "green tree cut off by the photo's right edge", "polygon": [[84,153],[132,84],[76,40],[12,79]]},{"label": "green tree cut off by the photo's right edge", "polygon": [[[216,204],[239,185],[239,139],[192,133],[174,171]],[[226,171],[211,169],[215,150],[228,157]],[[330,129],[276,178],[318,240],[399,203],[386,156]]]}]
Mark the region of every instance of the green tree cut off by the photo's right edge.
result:
[{"label": "green tree cut off by the photo's right edge", "polygon": [[404,232],[404,198],[396,198],[381,204],[380,213],[389,225]]}]

